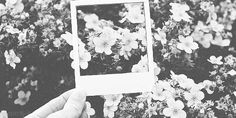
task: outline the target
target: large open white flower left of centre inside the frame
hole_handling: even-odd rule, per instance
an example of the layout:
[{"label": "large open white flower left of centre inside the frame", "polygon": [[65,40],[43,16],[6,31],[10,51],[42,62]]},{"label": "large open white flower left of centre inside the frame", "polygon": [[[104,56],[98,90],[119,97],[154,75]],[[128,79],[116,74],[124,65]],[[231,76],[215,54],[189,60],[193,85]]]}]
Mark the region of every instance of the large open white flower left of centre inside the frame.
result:
[{"label": "large open white flower left of centre inside the frame", "polygon": [[116,42],[116,37],[114,37],[114,30],[112,28],[104,28],[103,32],[99,37],[94,37],[93,43],[95,44],[95,51],[97,53],[103,53],[110,55],[112,53],[111,47]]}]

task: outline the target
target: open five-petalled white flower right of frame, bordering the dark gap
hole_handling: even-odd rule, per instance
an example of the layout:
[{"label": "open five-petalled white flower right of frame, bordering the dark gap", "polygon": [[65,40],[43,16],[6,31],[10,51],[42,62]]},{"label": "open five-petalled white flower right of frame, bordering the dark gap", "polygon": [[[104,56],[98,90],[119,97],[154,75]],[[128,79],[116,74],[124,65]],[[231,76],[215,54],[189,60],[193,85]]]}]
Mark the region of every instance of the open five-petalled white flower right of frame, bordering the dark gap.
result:
[{"label": "open five-petalled white flower right of frame, bordering the dark gap", "polygon": [[192,53],[192,50],[198,49],[198,44],[193,42],[193,38],[191,36],[183,37],[179,36],[180,43],[177,44],[177,48],[180,50],[184,50],[186,53]]}]

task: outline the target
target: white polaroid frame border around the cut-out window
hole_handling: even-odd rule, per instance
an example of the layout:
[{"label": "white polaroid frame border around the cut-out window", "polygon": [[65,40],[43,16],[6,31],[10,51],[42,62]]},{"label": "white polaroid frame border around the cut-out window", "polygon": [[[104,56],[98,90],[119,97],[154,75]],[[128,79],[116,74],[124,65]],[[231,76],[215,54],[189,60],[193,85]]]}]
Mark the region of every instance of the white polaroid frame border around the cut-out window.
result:
[{"label": "white polaroid frame border around the cut-out window", "polygon": [[[75,67],[76,88],[83,89],[89,96],[120,94],[120,93],[136,93],[151,91],[154,85],[154,69],[153,69],[153,51],[151,36],[151,20],[148,0],[76,0],[71,1],[71,17],[72,17],[72,34],[78,36],[77,31],[77,7],[89,5],[109,5],[123,3],[143,3],[145,15],[145,28],[147,37],[147,55],[148,55],[148,72],[143,73],[124,73],[124,74],[108,74],[108,75],[80,75],[79,58],[75,61],[78,66]],[[78,50],[78,43],[74,43],[73,49]],[[78,52],[78,51],[76,51]],[[79,54],[76,53],[75,56]]]}]

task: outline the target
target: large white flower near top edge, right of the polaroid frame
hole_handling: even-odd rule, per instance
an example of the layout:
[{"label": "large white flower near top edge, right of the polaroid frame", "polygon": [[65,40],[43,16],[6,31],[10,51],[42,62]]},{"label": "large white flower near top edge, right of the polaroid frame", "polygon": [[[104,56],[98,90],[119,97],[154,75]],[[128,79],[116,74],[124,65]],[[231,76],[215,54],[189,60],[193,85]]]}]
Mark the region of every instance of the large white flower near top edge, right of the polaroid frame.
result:
[{"label": "large white flower near top edge, right of the polaroid frame", "polygon": [[175,21],[187,21],[190,22],[190,16],[187,14],[186,11],[189,10],[189,6],[186,4],[179,4],[179,3],[170,3],[172,9],[170,10],[171,13],[173,14],[171,17]]}]

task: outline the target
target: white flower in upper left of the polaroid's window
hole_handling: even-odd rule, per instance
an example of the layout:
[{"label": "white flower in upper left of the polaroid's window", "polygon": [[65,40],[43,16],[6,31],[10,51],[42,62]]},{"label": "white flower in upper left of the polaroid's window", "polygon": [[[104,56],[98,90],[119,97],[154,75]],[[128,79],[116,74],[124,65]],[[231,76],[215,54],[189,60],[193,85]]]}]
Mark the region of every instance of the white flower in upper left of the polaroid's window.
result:
[{"label": "white flower in upper left of the polaroid's window", "polygon": [[88,29],[99,30],[100,21],[96,14],[85,15],[84,21],[86,22],[85,26]]}]

